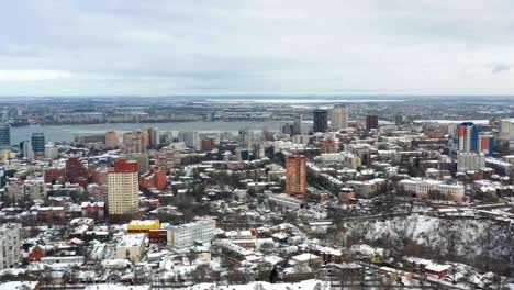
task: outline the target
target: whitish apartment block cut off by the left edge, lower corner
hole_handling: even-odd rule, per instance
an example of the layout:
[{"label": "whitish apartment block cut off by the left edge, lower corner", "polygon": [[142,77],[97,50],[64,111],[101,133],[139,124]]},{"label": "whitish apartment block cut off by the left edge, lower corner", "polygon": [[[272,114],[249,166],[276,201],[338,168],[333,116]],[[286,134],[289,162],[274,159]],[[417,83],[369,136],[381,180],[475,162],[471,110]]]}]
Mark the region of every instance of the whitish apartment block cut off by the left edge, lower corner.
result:
[{"label": "whitish apartment block cut off by the left edge, lower corner", "polygon": [[20,264],[21,224],[0,225],[0,270],[18,268]]}]

